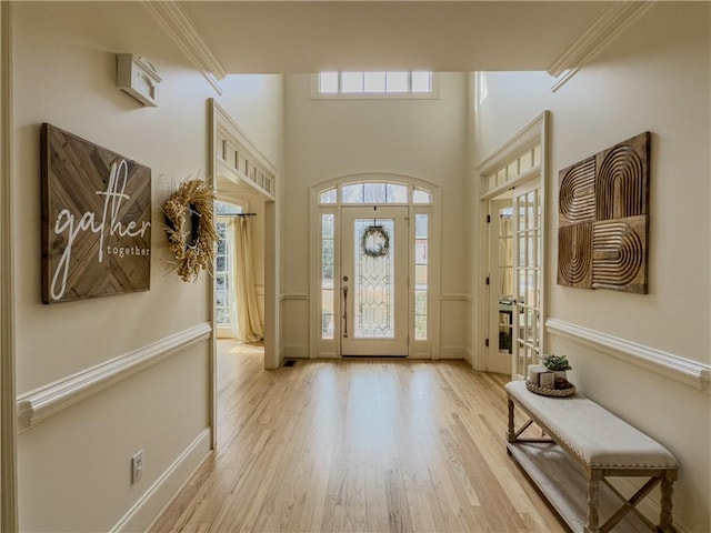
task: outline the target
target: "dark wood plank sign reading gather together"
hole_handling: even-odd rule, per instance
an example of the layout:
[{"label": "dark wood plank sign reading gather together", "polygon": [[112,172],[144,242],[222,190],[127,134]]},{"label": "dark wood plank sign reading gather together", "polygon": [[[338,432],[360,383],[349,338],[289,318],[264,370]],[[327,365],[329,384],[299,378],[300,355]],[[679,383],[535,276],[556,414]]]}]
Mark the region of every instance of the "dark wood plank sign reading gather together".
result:
[{"label": "dark wood plank sign reading gather together", "polygon": [[150,289],[151,170],[42,124],[42,302]]}]

